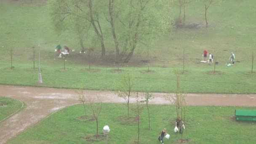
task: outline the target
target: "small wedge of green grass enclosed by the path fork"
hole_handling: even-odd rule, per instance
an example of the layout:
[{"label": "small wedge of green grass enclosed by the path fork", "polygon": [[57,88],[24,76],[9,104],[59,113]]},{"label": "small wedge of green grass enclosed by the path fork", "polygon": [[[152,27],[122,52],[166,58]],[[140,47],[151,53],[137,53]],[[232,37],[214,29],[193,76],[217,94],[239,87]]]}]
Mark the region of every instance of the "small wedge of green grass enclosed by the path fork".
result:
[{"label": "small wedge of green grass enclosed by the path fork", "polygon": [[21,101],[0,96],[0,121],[10,116],[22,107]]}]

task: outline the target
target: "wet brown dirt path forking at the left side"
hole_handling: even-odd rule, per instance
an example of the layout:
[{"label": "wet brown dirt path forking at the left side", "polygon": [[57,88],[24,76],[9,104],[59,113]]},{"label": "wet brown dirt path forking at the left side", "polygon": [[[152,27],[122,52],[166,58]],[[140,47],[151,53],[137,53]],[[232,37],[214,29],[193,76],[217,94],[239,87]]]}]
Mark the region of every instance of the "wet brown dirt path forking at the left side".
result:
[{"label": "wet brown dirt path forking at the left side", "polygon": [[[102,102],[125,103],[113,91],[84,90],[88,97],[101,96]],[[152,93],[155,99],[150,104],[170,104],[164,99],[166,93]],[[6,96],[23,101],[26,107],[8,119],[0,122],[0,144],[4,144],[25,128],[35,125],[51,113],[72,104],[80,103],[72,89],[25,87],[0,85],[0,96]],[[135,102],[135,94],[131,103]],[[200,106],[256,106],[256,94],[186,94],[187,105]]]}]

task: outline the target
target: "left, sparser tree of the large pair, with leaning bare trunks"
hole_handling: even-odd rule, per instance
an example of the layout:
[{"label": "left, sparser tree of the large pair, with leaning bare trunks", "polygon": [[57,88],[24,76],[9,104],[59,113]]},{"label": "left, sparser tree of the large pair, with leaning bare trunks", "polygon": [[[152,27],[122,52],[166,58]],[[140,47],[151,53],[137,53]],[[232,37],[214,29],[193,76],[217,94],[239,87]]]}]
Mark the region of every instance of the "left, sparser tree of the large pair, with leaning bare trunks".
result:
[{"label": "left, sparser tree of the large pair, with leaning bare trunks", "polygon": [[[101,3],[93,0],[51,0],[51,16],[57,32],[75,32],[84,50],[85,34],[93,30],[101,41],[101,57],[105,56],[104,37],[99,17]],[[93,36],[92,36],[93,37]]]}]

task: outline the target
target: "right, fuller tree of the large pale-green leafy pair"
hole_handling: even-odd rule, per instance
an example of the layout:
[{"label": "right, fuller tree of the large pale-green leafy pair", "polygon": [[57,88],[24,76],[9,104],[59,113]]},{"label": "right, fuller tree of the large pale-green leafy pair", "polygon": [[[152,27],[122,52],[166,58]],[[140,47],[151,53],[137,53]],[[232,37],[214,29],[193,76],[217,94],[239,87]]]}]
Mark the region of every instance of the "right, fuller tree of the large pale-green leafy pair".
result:
[{"label": "right, fuller tree of the large pale-green leafy pair", "polygon": [[128,62],[136,48],[173,27],[165,0],[109,0],[116,61]]}]

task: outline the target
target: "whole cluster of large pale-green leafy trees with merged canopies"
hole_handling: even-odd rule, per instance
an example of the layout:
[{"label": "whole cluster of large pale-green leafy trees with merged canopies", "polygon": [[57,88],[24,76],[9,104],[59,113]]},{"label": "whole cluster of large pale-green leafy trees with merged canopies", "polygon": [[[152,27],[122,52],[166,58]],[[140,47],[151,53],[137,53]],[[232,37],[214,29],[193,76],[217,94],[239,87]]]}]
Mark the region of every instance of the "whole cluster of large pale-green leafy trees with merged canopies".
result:
[{"label": "whole cluster of large pale-green leafy trees with merged canopies", "polygon": [[101,56],[105,56],[104,35],[111,34],[116,62],[128,62],[135,49],[173,28],[168,3],[168,0],[51,0],[50,8],[58,32],[75,29],[82,46],[84,35],[94,31],[101,41]]}]

